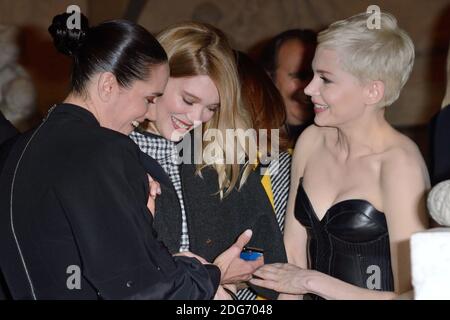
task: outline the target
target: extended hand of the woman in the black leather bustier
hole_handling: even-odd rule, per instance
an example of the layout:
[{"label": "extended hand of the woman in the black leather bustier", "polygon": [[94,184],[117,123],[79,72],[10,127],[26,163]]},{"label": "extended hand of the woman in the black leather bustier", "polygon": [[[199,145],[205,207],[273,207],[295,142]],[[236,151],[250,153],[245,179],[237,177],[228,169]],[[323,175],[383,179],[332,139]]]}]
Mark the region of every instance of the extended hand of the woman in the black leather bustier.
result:
[{"label": "extended hand of the woman in the black leather bustier", "polygon": [[250,283],[288,294],[306,294],[306,278],[312,270],[302,269],[289,263],[274,263],[262,266],[253,275],[260,279],[253,278]]}]

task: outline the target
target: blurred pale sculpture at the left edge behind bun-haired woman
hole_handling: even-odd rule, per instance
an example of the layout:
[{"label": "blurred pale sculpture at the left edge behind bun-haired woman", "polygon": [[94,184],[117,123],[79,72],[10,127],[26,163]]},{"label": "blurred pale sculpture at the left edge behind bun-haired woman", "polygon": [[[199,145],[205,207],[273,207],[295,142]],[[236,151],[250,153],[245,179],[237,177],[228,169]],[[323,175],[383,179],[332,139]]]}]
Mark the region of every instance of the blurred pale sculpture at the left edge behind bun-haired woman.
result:
[{"label": "blurred pale sculpture at the left edge behind bun-haired woman", "polygon": [[18,64],[17,28],[0,25],[0,111],[11,123],[25,129],[35,112],[35,90]]}]

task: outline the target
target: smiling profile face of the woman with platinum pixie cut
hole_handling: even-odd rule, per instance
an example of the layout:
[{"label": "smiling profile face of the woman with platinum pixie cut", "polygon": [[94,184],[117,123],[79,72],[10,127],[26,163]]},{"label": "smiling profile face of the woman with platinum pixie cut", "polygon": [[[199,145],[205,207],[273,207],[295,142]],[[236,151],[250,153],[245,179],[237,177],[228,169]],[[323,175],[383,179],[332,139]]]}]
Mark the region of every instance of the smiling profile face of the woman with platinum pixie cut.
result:
[{"label": "smiling profile face of the woman with platinum pixie cut", "polygon": [[314,103],[318,126],[339,126],[365,111],[365,87],[342,69],[338,52],[319,47],[313,60],[314,78],[305,88]]}]

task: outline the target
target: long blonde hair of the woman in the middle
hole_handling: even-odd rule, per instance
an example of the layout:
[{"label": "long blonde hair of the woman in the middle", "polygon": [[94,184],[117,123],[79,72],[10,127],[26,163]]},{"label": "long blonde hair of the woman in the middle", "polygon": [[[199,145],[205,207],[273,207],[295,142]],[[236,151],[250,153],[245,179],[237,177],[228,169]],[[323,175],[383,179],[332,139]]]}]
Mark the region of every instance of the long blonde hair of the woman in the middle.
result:
[{"label": "long blonde hair of the woman in the middle", "polygon": [[[204,132],[217,129],[223,137],[226,129],[249,129],[252,127],[251,117],[241,104],[241,90],[233,50],[225,34],[219,29],[204,23],[185,22],[173,25],[157,35],[158,41],[167,52],[170,66],[170,77],[192,77],[207,75],[217,87],[220,97],[220,108],[211,120],[203,125]],[[247,146],[238,137],[231,141],[214,141],[219,145],[220,158],[227,159],[227,154],[236,146],[247,156]],[[212,142],[203,141],[203,148]],[[234,153],[234,154],[235,154]],[[236,159],[237,160],[237,159]],[[207,164],[203,161],[197,165],[197,174]],[[241,174],[237,161],[226,164],[216,161],[212,164],[217,172],[221,197],[228,195],[239,182],[245,183],[250,166],[244,165]]]}]

